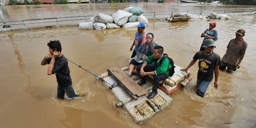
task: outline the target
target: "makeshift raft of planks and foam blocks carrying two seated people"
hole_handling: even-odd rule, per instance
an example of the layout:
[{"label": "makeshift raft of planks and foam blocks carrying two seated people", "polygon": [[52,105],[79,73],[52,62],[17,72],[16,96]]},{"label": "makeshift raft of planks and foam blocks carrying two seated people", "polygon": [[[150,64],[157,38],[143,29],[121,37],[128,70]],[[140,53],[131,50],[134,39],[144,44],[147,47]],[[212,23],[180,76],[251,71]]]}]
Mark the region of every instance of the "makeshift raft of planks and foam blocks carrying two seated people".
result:
[{"label": "makeshift raft of planks and foam blocks carrying two seated people", "polygon": [[[146,84],[139,86],[140,81],[138,74],[132,74],[130,78],[128,66],[123,68],[112,67],[106,73],[101,74],[101,78],[111,91],[116,95],[119,101],[116,107],[123,107],[131,114],[137,123],[143,123],[146,119],[152,117],[156,112],[164,110],[173,101],[170,97],[176,91],[179,91],[183,85],[186,85],[190,79],[189,72],[181,72],[181,67],[175,65],[175,73],[172,77],[167,78],[159,85],[158,94],[147,99],[147,95],[153,88],[153,76],[146,76]],[[112,84],[115,83],[114,86]],[[131,85],[129,85],[131,83]],[[146,91],[146,92],[145,92]]]}]

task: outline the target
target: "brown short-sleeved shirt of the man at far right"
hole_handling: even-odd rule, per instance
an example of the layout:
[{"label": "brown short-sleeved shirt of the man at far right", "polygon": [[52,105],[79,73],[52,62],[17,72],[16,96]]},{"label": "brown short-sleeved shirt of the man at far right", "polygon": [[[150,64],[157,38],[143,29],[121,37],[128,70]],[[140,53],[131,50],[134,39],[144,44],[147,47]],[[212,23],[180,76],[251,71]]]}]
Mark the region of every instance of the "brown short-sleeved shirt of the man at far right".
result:
[{"label": "brown short-sleeved shirt of the man at far right", "polygon": [[245,55],[247,43],[244,41],[236,41],[236,38],[229,41],[226,54],[222,57],[221,61],[236,66],[239,62],[240,56]]}]

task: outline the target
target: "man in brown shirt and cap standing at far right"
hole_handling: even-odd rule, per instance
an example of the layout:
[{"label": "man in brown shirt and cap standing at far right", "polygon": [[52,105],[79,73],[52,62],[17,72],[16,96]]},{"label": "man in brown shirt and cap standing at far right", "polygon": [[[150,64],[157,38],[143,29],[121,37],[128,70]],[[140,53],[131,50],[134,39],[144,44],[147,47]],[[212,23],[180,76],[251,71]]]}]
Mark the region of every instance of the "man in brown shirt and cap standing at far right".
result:
[{"label": "man in brown shirt and cap standing at far right", "polygon": [[235,72],[237,68],[240,68],[240,63],[242,62],[247,49],[247,43],[243,39],[244,36],[245,30],[238,29],[236,38],[229,41],[226,54],[221,59],[221,64],[219,66],[220,70],[225,70],[226,67],[228,67],[227,71]]}]

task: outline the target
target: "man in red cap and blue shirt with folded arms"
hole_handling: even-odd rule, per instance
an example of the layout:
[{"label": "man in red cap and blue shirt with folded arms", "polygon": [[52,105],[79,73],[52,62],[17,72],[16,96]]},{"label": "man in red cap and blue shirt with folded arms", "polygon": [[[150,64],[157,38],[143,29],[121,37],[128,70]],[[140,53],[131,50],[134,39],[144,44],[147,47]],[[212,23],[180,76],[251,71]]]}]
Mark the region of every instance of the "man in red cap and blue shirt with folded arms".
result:
[{"label": "man in red cap and blue shirt with folded arms", "polygon": [[[216,22],[211,22],[210,24],[210,27],[207,28],[202,34],[201,34],[201,37],[204,37],[203,39],[203,42],[204,40],[208,39],[208,38],[211,38],[213,39],[214,41],[217,41],[218,40],[218,32],[217,30],[215,30],[214,28],[216,27]],[[202,47],[203,46],[203,43],[201,45],[201,48],[200,48],[200,51],[203,51],[204,48]]]}]

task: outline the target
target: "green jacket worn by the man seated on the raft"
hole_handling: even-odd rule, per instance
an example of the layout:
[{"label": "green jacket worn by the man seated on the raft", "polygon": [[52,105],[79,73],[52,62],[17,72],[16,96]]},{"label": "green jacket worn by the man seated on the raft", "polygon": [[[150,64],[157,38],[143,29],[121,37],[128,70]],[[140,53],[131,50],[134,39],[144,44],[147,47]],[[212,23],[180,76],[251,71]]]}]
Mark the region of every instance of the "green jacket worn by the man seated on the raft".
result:
[{"label": "green jacket worn by the man seated on the raft", "polygon": [[170,64],[168,58],[164,59],[162,61],[162,64],[160,64],[159,61],[162,59],[162,57],[163,57],[163,55],[161,56],[161,58],[159,60],[157,60],[157,59],[154,58],[154,55],[150,55],[145,60],[144,63],[151,64],[151,63],[154,62],[154,69],[155,69],[154,73],[156,75],[160,75],[160,74],[163,74],[163,73],[169,75],[169,70],[172,68],[172,65]]}]

